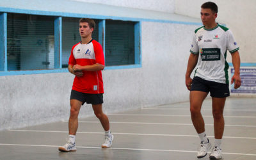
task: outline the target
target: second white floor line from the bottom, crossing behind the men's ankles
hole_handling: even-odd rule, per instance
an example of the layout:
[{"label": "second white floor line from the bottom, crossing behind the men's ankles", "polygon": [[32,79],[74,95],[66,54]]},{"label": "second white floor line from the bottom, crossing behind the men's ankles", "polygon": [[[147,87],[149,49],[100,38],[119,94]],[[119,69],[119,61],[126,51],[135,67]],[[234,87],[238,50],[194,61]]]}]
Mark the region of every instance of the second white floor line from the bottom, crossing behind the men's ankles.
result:
[{"label": "second white floor line from the bottom, crossing behind the men's ankles", "polygon": [[[42,131],[42,130],[22,130],[22,129],[10,129],[8,131],[15,131],[15,132],[62,132],[68,133],[68,131]],[[81,134],[104,134],[104,132],[77,132]],[[198,137],[198,135],[182,135],[182,134],[147,134],[147,133],[124,133],[124,132],[112,132],[113,134],[120,134],[120,135],[138,135],[138,136],[179,136],[179,137]],[[210,138],[214,138],[214,136],[208,136]],[[235,137],[235,136],[223,136],[223,138],[236,138],[236,139],[250,139],[256,140],[253,137]]]}]

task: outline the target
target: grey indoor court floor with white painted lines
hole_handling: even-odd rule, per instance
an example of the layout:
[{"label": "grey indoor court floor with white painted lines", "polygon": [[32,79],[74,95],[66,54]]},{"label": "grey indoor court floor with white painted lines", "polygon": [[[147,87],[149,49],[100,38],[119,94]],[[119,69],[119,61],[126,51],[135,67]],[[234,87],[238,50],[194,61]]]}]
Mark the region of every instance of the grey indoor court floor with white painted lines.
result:
[{"label": "grey indoor court floor with white painted lines", "polygon": [[[115,136],[112,148],[100,147],[104,132],[92,116],[79,118],[76,152],[58,151],[68,137],[68,122],[63,120],[0,131],[0,159],[197,159],[200,140],[191,122],[189,102],[107,115]],[[204,101],[202,115],[214,143],[211,99]],[[256,98],[228,97],[224,115],[223,159],[256,159]],[[209,159],[209,154],[202,159]]]}]

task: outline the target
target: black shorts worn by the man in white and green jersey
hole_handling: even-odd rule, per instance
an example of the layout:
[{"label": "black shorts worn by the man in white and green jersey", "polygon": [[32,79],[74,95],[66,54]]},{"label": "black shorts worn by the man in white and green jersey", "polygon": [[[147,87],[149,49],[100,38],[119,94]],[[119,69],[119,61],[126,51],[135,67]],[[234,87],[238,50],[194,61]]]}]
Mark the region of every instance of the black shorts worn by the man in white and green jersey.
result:
[{"label": "black shorts worn by the man in white and green jersey", "polygon": [[193,78],[191,91],[210,92],[211,97],[216,98],[224,98],[230,95],[228,84],[207,81],[200,77]]}]

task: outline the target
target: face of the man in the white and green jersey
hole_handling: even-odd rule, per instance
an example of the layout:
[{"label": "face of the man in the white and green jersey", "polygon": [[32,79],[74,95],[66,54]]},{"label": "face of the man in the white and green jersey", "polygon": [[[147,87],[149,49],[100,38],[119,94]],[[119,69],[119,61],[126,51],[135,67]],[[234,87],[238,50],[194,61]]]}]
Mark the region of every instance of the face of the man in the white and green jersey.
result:
[{"label": "face of the man in the white and green jersey", "polygon": [[212,12],[209,8],[201,8],[201,20],[204,26],[211,26],[217,18],[217,13]]}]

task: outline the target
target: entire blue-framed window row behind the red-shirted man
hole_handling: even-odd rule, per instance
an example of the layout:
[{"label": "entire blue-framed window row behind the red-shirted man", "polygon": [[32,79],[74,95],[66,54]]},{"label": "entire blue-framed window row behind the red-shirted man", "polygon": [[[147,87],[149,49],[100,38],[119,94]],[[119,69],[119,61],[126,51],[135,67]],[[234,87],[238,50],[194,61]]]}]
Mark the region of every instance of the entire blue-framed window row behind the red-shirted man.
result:
[{"label": "entire blue-framed window row behind the red-shirted man", "polygon": [[[68,67],[72,46],[81,41],[79,19],[0,13],[0,76],[68,72],[61,68]],[[141,67],[140,22],[93,20],[92,38],[102,45],[106,69]]]}]

